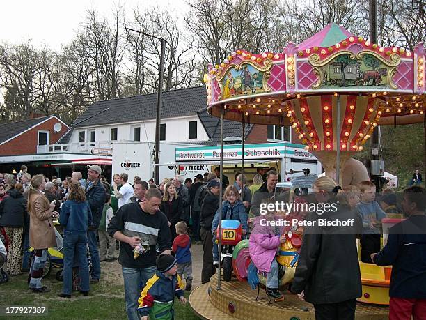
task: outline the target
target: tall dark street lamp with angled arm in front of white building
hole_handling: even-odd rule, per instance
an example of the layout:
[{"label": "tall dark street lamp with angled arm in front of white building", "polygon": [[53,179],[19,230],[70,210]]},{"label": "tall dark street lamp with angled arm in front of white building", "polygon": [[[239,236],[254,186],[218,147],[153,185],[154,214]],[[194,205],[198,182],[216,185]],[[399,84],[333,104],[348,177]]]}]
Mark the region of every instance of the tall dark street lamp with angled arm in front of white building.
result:
[{"label": "tall dark street lamp with angled arm in front of white building", "polygon": [[148,36],[161,40],[161,55],[160,55],[160,64],[158,67],[159,79],[158,79],[158,92],[157,92],[157,116],[155,119],[155,156],[154,156],[154,182],[156,185],[159,185],[159,135],[160,135],[160,124],[161,124],[161,94],[163,91],[163,70],[164,70],[164,51],[166,49],[166,40],[159,38],[157,36],[152,36],[151,34],[144,33],[142,31],[125,28],[127,31],[134,31],[137,33],[143,34],[143,36]]}]

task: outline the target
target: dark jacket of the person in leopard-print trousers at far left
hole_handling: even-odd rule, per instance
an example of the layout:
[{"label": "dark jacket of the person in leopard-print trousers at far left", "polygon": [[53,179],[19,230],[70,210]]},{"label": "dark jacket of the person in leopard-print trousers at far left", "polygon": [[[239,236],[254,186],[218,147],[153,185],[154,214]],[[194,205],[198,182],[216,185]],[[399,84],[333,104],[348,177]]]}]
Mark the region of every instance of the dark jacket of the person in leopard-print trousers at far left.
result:
[{"label": "dark jacket of the person in leopard-print trousers at far left", "polygon": [[10,189],[8,197],[4,197],[0,203],[0,226],[24,227],[24,215],[26,215],[26,199],[21,192]]}]

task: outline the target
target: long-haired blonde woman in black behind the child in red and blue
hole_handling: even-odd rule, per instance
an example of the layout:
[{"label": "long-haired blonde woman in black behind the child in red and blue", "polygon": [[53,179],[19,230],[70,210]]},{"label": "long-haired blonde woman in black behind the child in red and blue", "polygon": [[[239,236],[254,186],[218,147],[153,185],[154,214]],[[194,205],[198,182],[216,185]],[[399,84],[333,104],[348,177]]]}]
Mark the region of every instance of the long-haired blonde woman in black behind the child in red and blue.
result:
[{"label": "long-haired blonde woman in black behind the child in red and blue", "polygon": [[178,222],[180,222],[183,211],[182,198],[178,197],[178,192],[176,192],[176,187],[173,184],[173,181],[169,181],[164,186],[164,196],[160,210],[166,215],[168,223],[170,224],[170,232],[173,242],[177,236],[175,226]]}]

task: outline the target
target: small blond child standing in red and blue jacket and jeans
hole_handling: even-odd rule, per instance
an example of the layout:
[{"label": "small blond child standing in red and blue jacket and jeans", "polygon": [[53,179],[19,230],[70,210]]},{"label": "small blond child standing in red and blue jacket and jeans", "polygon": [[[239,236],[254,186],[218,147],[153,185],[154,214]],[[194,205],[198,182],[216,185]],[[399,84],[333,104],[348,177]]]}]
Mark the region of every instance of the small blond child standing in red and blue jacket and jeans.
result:
[{"label": "small blond child standing in red and blue jacket and jeans", "polygon": [[173,241],[172,251],[178,261],[178,275],[184,275],[187,286],[186,291],[191,291],[192,286],[192,259],[191,238],[188,236],[188,226],[185,222],[180,221],[176,224],[176,234],[178,236]]}]

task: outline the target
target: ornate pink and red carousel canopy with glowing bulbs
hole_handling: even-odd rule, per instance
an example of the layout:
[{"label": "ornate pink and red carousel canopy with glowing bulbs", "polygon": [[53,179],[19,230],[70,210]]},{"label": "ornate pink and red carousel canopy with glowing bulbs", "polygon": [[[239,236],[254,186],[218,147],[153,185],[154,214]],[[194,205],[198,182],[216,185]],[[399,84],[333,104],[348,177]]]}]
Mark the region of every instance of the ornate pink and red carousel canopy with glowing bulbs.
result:
[{"label": "ornate pink and red carousel canopy with glowing bulbs", "polygon": [[354,151],[376,125],[423,121],[424,90],[423,44],[413,52],[380,47],[337,24],[283,52],[231,52],[207,76],[210,114],[224,110],[232,121],[293,125],[319,150],[338,145],[337,96],[346,124],[340,133],[348,137],[343,150]]}]

